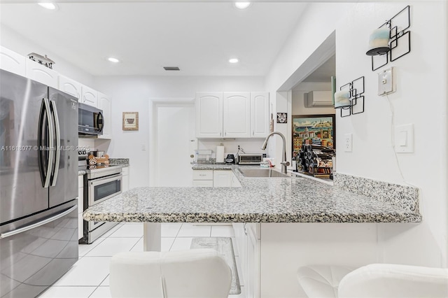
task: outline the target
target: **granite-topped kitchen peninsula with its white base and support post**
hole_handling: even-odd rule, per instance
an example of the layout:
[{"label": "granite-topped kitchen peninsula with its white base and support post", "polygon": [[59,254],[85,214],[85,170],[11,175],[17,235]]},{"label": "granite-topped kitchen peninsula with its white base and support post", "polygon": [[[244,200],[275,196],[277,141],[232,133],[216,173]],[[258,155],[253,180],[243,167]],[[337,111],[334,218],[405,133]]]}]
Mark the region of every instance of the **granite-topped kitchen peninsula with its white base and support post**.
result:
[{"label": "granite-topped kitchen peninsula with its white base and support post", "polygon": [[257,222],[259,297],[294,297],[295,271],[304,264],[378,262],[377,223],[421,222],[408,203],[302,177],[244,178],[231,169],[241,187],[138,187],[88,208],[84,219],[146,222],[148,250],[160,249],[160,222]]}]

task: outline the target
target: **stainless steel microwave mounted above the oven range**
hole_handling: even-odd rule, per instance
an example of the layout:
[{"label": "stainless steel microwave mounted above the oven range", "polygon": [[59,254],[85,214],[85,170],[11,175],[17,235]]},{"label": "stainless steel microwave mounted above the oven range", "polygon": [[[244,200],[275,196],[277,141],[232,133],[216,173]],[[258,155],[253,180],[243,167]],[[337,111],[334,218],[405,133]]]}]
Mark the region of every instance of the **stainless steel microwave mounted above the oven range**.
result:
[{"label": "stainless steel microwave mounted above the oven range", "polygon": [[78,104],[78,134],[99,136],[103,134],[103,111],[87,104]]}]

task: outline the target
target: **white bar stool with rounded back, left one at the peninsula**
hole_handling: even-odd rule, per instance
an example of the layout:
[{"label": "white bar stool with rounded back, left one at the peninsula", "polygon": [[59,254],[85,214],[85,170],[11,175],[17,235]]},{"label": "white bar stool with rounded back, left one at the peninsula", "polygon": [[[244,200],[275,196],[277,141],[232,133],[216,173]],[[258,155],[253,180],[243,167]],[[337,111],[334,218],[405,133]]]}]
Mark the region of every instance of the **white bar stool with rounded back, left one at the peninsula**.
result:
[{"label": "white bar stool with rounded back, left one at the peninsula", "polygon": [[113,298],[227,298],[232,271],[213,249],[127,252],[111,258]]}]

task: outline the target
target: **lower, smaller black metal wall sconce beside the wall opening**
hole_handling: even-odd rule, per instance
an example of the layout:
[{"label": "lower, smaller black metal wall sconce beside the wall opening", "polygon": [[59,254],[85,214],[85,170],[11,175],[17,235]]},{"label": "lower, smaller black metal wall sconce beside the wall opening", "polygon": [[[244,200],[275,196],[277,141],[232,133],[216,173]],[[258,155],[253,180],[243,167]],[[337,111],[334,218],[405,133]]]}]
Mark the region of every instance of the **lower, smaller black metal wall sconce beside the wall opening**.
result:
[{"label": "lower, smaller black metal wall sconce beside the wall opening", "polygon": [[[339,90],[346,91],[350,101],[350,104],[343,104],[342,106],[336,106],[335,102],[335,108],[340,109],[341,117],[364,113],[364,76],[342,85]],[[337,99],[335,99],[335,101],[336,100]],[[344,111],[344,113],[342,111]],[[348,111],[348,113],[345,111]]]}]

